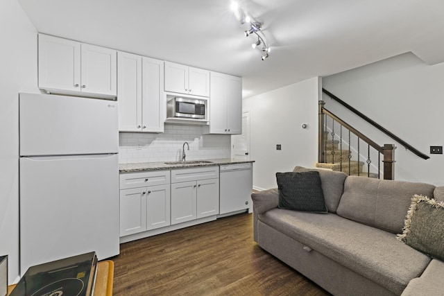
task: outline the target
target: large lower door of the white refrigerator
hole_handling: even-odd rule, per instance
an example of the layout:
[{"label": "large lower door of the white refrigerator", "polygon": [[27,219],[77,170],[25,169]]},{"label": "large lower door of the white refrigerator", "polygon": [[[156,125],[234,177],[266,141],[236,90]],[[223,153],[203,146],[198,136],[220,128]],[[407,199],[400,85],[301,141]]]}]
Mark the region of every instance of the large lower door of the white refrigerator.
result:
[{"label": "large lower door of the white refrigerator", "polygon": [[119,254],[117,155],[22,157],[20,270],[95,251]]}]

